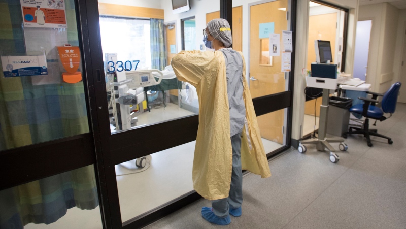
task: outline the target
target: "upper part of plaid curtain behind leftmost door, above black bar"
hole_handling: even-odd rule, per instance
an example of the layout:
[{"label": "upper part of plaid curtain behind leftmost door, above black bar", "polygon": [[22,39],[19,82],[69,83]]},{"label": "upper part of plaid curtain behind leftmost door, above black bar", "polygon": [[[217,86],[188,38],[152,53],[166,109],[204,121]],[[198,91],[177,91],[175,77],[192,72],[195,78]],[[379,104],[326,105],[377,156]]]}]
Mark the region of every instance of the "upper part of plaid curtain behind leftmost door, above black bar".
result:
[{"label": "upper part of plaid curtain behind leftmost door, above black bar", "polygon": [[83,82],[62,80],[56,47],[79,46],[74,1],[64,4],[67,28],[47,28],[21,26],[20,2],[2,2],[1,55],[45,53],[48,75],[5,78],[0,70],[0,150],[89,132]]}]

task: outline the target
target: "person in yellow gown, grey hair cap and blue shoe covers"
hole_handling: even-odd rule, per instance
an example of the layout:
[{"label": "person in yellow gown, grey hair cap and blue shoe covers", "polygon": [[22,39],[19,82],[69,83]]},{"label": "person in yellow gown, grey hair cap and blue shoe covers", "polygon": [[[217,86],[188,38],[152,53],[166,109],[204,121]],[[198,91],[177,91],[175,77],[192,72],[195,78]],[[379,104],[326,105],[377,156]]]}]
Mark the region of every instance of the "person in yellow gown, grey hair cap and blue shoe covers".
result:
[{"label": "person in yellow gown, grey hair cap and blue shoe covers", "polygon": [[[269,177],[268,161],[245,80],[245,61],[232,44],[227,20],[214,19],[204,31],[215,51],[181,51],[171,62],[180,81],[196,87],[199,127],[193,160],[193,188],[212,200],[202,217],[228,225],[242,215],[242,169]],[[243,160],[242,160],[243,158]]]}]

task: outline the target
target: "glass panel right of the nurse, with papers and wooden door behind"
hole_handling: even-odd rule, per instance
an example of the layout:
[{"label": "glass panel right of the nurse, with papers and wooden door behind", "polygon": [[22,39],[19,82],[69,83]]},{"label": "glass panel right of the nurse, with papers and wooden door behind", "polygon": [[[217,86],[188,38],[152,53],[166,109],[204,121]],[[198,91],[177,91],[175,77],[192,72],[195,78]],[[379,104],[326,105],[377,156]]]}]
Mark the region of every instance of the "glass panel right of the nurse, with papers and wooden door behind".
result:
[{"label": "glass panel right of the nurse, with papers and wooden door behind", "polygon": [[[250,4],[249,84],[265,151],[287,145],[293,36],[288,0]],[[289,13],[290,12],[290,13]],[[257,109],[256,109],[257,111]]]}]

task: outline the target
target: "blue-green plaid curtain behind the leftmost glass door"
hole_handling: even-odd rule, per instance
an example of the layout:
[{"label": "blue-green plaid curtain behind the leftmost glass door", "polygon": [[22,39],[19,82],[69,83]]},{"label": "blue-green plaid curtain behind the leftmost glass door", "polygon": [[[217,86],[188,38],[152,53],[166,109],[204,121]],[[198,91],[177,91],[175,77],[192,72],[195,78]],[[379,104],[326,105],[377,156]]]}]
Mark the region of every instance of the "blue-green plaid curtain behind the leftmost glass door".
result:
[{"label": "blue-green plaid curtain behind the leftmost glass door", "polygon": [[[74,1],[64,4],[67,29],[24,28],[20,1],[0,0],[1,55],[53,47],[44,49],[48,77],[60,77],[56,46],[79,45]],[[89,132],[83,82],[38,85],[36,80],[35,76],[4,78],[0,64],[0,151]],[[98,206],[92,165],[1,190],[0,229],[49,224],[75,206]]]}]

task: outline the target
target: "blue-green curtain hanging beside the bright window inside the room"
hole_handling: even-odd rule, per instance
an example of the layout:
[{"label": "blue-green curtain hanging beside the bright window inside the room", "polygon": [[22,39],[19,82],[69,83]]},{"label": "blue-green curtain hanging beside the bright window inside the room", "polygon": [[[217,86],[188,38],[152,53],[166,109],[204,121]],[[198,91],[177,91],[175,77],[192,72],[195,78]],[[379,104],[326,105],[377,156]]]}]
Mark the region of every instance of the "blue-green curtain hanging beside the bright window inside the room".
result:
[{"label": "blue-green curtain hanging beside the bright window inside the room", "polygon": [[152,69],[164,70],[167,66],[166,47],[163,35],[163,20],[151,18],[151,62]]}]

